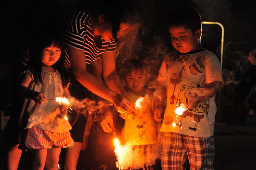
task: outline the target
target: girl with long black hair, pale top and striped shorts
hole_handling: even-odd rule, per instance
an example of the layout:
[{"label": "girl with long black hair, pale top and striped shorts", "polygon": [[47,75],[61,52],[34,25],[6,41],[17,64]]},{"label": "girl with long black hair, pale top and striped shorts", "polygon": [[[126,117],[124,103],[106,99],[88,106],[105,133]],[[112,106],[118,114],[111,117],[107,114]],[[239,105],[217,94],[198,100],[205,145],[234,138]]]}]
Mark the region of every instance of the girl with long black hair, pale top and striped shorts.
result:
[{"label": "girl with long black hair, pale top and striped shorts", "polygon": [[26,99],[20,122],[21,129],[28,129],[24,143],[35,154],[32,169],[57,169],[61,147],[74,145],[69,132],[72,127],[63,119],[67,115],[67,106],[55,100],[56,97],[70,96],[63,47],[58,30],[44,29],[31,44],[28,67],[20,75],[17,90]]}]

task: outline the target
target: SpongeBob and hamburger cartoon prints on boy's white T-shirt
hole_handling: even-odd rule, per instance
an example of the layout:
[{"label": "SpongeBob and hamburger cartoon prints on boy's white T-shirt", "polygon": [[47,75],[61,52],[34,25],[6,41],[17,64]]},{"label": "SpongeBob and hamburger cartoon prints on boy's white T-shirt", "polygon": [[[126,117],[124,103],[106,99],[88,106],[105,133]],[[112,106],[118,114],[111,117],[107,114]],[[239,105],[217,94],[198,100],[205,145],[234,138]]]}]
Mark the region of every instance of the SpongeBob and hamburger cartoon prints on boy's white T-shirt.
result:
[{"label": "SpongeBob and hamburger cartoon prints on boy's white T-shirt", "polygon": [[[175,55],[174,55],[175,57]],[[170,60],[175,61],[176,59],[172,57]],[[189,59],[190,55],[179,55],[177,56],[177,62],[184,63],[187,59]],[[204,64],[205,64],[205,57],[200,55],[195,59],[195,62],[189,66],[190,73],[193,75],[196,75],[198,73],[203,73],[204,71]],[[166,71],[168,70],[168,63],[166,63]],[[181,68],[179,72],[174,72],[171,74],[169,83],[173,85],[173,91],[172,95],[169,97],[169,102],[171,105],[176,105],[177,107],[180,107],[181,104],[187,105],[189,97],[192,95],[191,90],[193,88],[200,88],[202,87],[203,83],[205,82],[205,75],[202,75],[197,82],[192,82],[191,84],[182,85],[180,89],[176,89],[177,84],[182,82],[182,72],[185,68],[185,65]],[[175,90],[179,90],[178,96],[174,95]],[[196,131],[197,125],[200,122],[200,119],[204,118],[204,114],[208,114],[208,108],[209,103],[208,100],[205,100],[203,102],[200,102],[196,108],[194,109],[187,109],[185,110],[181,115],[179,115],[177,118],[179,118],[179,122],[175,122],[176,126],[182,126],[182,121],[187,116],[193,117],[194,119],[194,126],[189,126],[190,130]],[[167,116],[165,120],[168,120],[165,122],[166,125],[171,125],[171,121],[173,118],[170,116]],[[177,119],[176,119],[177,120]]]}]

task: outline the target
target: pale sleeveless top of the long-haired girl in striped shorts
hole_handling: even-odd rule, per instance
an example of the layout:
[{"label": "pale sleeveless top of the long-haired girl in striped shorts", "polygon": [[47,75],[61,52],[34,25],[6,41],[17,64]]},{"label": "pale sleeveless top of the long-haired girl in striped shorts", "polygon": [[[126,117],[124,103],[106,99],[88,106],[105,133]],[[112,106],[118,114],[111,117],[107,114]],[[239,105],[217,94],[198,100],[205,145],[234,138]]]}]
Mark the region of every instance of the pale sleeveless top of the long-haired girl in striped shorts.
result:
[{"label": "pale sleeveless top of the long-haired girl in striped shorts", "polygon": [[[47,99],[55,99],[56,97],[63,96],[64,88],[62,86],[62,79],[58,70],[49,72],[42,68],[42,81],[43,84],[35,83],[31,70],[23,71],[22,74],[29,73],[32,81],[29,84],[29,89],[36,92],[43,93]],[[67,87],[66,87],[67,88]],[[60,104],[56,100],[49,100],[42,105],[36,104],[34,100],[25,99],[20,123],[23,118],[28,118],[28,123],[22,128],[29,129],[32,126],[37,126],[50,132],[62,133],[72,129],[69,121],[57,117],[60,114]]]}]

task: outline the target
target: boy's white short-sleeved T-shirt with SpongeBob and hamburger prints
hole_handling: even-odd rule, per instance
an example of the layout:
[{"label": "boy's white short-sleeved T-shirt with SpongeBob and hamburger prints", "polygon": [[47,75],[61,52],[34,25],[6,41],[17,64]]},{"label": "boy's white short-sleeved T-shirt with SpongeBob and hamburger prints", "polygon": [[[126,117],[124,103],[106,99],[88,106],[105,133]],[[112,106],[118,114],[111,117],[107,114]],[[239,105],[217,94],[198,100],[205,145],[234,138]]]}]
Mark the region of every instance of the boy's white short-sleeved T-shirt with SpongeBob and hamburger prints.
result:
[{"label": "boy's white short-sleeved T-shirt with SpongeBob and hamburger prints", "polygon": [[187,106],[193,88],[203,87],[212,81],[222,81],[217,56],[205,49],[189,54],[171,52],[162,62],[158,81],[166,81],[167,84],[167,105],[161,131],[196,137],[212,136],[217,110],[215,96],[181,115],[175,114],[175,110],[181,105]]}]

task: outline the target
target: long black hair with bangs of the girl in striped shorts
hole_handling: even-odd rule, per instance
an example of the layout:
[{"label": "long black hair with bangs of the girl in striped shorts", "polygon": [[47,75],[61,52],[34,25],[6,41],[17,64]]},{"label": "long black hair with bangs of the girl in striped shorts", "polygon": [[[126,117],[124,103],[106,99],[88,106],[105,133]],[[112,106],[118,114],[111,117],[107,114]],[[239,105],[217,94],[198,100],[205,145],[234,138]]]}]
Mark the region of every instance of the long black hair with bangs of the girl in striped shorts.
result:
[{"label": "long black hair with bangs of the girl in striped shorts", "polygon": [[32,70],[35,82],[37,84],[43,83],[42,81],[42,54],[45,47],[50,47],[54,43],[54,47],[58,47],[61,50],[60,58],[54,63],[54,67],[60,72],[62,85],[66,87],[69,80],[66,75],[64,67],[64,40],[63,32],[56,27],[48,26],[39,31],[37,29],[36,34],[32,37],[31,41],[31,53],[28,63],[28,67]]}]

